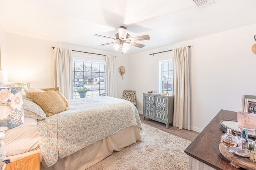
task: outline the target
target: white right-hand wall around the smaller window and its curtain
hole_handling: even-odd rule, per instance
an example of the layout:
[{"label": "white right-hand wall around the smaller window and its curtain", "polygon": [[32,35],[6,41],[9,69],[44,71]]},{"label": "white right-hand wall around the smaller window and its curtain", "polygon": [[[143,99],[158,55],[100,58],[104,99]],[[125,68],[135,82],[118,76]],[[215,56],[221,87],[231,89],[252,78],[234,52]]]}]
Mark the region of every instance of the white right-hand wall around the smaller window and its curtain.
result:
[{"label": "white right-hand wall around the smaller window and its curtain", "polygon": [[131,55],[130,88],[136,90],[138,111],[143,112],[143,93],[158,89],[157,61],[172,51],[149,54],[188,45],[192,46],[191,129],[200,132],[221,109],[240,111],[242,95],[256,95],[256,55],[251,51],[255,30],[253,24]]}]

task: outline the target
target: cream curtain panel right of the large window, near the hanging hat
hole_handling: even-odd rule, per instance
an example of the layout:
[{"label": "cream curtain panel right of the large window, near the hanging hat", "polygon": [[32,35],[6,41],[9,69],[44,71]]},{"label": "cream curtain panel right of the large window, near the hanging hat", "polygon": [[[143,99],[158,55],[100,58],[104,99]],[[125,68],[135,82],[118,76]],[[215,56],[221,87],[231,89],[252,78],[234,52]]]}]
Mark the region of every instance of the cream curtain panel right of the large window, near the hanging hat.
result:
[{"label": "cream curtain panel right of the large window, near the hanging hat", "polygon": [[106,55],[106,96],[117,97],[115,56]]}]

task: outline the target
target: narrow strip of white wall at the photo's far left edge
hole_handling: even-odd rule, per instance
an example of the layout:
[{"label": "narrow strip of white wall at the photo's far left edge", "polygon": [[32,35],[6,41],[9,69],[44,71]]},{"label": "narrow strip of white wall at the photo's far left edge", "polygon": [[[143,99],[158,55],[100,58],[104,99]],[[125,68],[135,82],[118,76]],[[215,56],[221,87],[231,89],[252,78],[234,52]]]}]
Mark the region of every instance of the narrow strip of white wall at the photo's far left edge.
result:
[{"label": "narrow strip of white wall at the photo's far left edge", "polygon": [[4,31],[2,25],[0,24],[0,60],[2,69],[0,70],[0,82],[8,81],[7,75],[7,40],[6,32]]}]

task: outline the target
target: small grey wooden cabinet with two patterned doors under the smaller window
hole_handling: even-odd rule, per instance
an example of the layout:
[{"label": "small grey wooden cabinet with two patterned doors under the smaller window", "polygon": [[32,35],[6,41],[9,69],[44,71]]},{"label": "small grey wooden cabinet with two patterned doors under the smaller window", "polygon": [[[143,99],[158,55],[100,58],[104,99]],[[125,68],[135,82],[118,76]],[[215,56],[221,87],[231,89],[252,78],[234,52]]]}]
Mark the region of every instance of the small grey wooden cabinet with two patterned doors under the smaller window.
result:
[{"label": "small grey wooden cabinet with two patterned doors under the smaller window", "polygon": [[148,117],[154,121],[169,124],[173,121],[174,96],[158,94],[143,94],[143,119]]}]

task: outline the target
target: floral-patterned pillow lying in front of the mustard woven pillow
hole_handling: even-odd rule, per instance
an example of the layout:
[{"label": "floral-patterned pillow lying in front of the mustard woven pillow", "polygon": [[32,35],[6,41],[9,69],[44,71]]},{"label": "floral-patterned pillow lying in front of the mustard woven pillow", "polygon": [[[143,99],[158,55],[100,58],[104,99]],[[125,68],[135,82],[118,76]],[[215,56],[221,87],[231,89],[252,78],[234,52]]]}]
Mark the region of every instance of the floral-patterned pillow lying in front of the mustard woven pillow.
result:
[{"label": "floral-patterned pillow lying in front of the mustard woven pillow", "polygon": [[46,114],[42,108],[33,101],[23,99],[24,116],[38,120],[46,118]]}]

